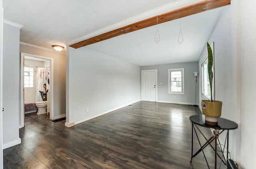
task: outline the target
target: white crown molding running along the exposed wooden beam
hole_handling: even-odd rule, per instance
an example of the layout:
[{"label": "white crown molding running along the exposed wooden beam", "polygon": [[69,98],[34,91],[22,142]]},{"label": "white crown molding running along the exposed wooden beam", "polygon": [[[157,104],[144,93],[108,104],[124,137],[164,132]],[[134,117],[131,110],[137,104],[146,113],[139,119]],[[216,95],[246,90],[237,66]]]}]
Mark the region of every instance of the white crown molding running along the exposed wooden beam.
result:
[{"label": "white crown molding running along the exposed wooden beam", "polygon": [[103,33],[121,28],[123,26],[127,26],[129,24],[132,24],[132,23],[135,23],[135,22],[138,22],[138,21],[141,21],[141,20],[153,17],[153,16],[157,16],[159,14],[163,14],[165,12],[170,12],[172,10],[176,10],[178,8],[182,8],[182,7],[185,7],[185,6],[188,6],[188,5],[191,5],[191,4],[195,4],[195,3],[198,3],[198,2],[202,2],[202,1],[204,1],[204,0],[177,0],[177,1],[171,2],[169,4],[160,6],[158,8],[154,8],[153,10],[143,12],[142,14],[138,14],[136,16],[133,16],[133,17],[128,18],[126,20],[123,20],[121,22],[117,22],[116,24],[112,24],[110,26],[99,29],[99,30],[94,31],[92,33],[88,33],[88,34],[86,34],[82,37],[78,37],[76,39],[68,41],[68,42],[65,43],[65,45],[69,46],[69,45],[72,45],[74,43],[78,43],[80,41],[83,41],[85,39],[89,39],[91,37],[95,37],[97,35],[101,35]]}]

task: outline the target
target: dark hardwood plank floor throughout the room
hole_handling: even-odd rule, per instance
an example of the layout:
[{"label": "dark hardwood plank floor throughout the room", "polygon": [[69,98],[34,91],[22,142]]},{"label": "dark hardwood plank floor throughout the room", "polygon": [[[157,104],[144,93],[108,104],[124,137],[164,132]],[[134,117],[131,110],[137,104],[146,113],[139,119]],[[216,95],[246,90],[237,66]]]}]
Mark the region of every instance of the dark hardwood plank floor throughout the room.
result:
[{"label": "dark hardwood plank floor throughout the room", "polygon": [[[189,116],[199,113],[194,106],[137,102],[71,128],[26,114],[22,143],[4,149],[4,169],[206,169],[202,152],[190,163]],[[214,151],[204,152],[213,168]]]}]

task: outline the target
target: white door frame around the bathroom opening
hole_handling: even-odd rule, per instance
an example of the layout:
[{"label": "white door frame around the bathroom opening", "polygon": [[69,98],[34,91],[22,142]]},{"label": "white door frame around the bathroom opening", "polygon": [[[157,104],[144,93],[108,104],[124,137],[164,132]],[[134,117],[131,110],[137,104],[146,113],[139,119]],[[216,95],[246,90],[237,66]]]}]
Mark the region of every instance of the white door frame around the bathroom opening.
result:
[{"label": "white door frame around the bathroom opening", "polygon": [[54,76],[54,72],[53,72],[53,58],[50,57],[44,57],[44,56],[39,56],[39,55],[32,55],[29,53],[20,53],[20,109],[21,109],[21,125],[20,128],[24,127],[24,56],[29,56],[29,57],[37,57],[40,59],[46,59],[46,60],[50,60],[50,120],[52,120],[54,118],[54,109],[53,109],[53,97],[54,97],[54,91],[53,91],[53,76]]}]

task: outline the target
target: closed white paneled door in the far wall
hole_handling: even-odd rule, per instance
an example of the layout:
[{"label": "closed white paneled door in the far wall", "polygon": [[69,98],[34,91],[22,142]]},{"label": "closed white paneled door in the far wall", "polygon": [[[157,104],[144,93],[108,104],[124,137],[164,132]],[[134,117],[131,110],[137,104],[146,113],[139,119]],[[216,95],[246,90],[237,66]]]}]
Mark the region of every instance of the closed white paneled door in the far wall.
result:
[{"label": "closed white paneled door in the far wall", "polygon": [[141,100],[156,101],[157,70],[141,71]]}]

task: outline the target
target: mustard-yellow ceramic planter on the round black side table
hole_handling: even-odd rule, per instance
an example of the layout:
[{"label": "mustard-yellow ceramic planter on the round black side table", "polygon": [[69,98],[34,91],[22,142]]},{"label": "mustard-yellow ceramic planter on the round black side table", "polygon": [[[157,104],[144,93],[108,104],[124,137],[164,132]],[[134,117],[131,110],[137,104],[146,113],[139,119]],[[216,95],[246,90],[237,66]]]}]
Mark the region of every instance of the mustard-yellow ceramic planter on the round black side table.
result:
[{"label": "mustard-yellow ceramic planter on the round black side table", "polygon": [[221,116],[222,102],[214,100],[202,100],[202,113],[205,115],[205,120],[209,122],[218,122],[218,117]]}]

